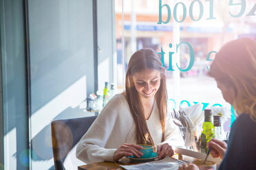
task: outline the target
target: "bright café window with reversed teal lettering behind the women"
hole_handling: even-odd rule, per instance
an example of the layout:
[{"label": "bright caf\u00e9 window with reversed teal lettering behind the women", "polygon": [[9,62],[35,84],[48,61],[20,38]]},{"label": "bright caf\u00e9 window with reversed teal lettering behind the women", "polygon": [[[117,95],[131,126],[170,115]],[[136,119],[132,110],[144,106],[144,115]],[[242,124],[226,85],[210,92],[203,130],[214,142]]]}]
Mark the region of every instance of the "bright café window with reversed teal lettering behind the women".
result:
[{"label": "bright caf\u00e9 window with reversed teal lettering behind the women", "polygon": [[[242,37],[256,40],[254,3],[116,0],[118,88],[125,88],[131,54],[149,47],[163,56],[169,110],[194,104],[202,104],[203,109],[223,106],[233,121],[232,106],[223,99],[207,72],[215,53],[226,42]],[[224,123],[226,131],[230,125],[229,115]]]}]

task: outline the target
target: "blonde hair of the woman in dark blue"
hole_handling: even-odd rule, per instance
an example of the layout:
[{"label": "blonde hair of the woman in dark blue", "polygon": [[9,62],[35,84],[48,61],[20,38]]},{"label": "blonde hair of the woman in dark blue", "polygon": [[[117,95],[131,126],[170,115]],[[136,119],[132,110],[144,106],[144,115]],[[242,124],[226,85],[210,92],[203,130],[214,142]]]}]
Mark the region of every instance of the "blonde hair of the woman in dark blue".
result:
[{"label": "blonde hair of the woman in dark blue", "polygon": [[240,38],[226,43],[216,54],[208,73],[233,88],[233,107],[256,121],[256,42]]}]

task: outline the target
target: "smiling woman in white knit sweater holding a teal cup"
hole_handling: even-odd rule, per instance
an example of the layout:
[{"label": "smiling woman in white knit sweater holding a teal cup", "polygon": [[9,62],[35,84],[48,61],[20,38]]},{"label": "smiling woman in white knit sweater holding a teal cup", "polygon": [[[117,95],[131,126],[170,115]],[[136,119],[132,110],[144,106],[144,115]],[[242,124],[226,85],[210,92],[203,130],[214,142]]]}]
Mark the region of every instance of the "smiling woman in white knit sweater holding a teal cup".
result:
[{"label": "smiling woman in white knit sweater holding a teal cup", "polygon": [[86,163],[142,156],[139,144],[157,146],[159,158],[182,145],[178,127],[167,116],[165,70],[152,49],[131,56],[125,92],[115,95],[81,138],[76,157]]}]

